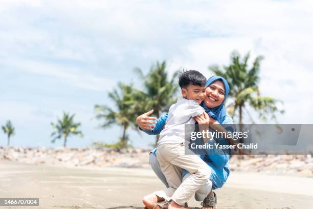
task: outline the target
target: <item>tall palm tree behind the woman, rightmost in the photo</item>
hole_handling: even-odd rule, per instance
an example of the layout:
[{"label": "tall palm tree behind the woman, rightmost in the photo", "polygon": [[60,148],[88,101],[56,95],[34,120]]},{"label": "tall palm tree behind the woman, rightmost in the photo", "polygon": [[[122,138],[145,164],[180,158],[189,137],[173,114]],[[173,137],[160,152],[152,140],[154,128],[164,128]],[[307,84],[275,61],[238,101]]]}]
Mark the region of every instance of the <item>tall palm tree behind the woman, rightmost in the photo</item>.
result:
[{"label": "tall palm tree behind the woman, rightmost in the photo", "polygon": [[[262,120],[266,120],[268,115],[271,116],[271,119],[276,119],[276,112],[284,112],[276,106],[277,102],[281,102],[280,100],[260,95],[258,82],[260,80],[260,62],[263,57],[256,57],[252,67],[248,68],[249,57],[250,53],[247,53],[241,60],[240,54],[234,51],[231,54],[231,64],[229,66],[223,68],[218,66],[209,67],[209,70],[213,71],[215,75],[223,76],[228,80],[230,86],[229,96],[234,99],[234,102],[229,106],[229,112],[232,117],[238,116],[239,124],[242,124],[243,121],[243,110],[254,122],[247,109],[248,105],[259,113]],[[242,125],[239,125],[239,127],[242,129]]]}]

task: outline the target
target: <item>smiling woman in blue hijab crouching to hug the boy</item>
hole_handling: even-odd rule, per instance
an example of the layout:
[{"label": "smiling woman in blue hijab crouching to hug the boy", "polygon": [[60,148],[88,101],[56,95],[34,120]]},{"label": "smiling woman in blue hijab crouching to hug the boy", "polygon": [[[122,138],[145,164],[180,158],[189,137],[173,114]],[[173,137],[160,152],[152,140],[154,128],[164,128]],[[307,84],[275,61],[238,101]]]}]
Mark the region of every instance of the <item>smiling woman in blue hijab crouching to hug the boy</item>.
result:
[{"label": "smiling woman in blue hijab crouching to hug the boy", "polygon": [[[213,76],[208,79],[206,87],[206,98],[201,103],[201,106],[205,109],[206,113],[195,117],[196,121],[199,124],[233,124],[233,120],[227,114],[224,106],[229,93],[229,85],[226,79],[220,76]],[[140,129],[145,133],[149,135],[160,134],[165,126],[168,115],[166,114],[165,116],[159,118],[155,123],[151,120],[155,120],[156,118],[149,117],[152,112],[153,110],[138,116],[136,122]],[[214,140],[220,144],[229,144],[229,141],[226,139],[215,138]],[[155,152],[157,152],[157,149],[154,149],[149,155],[151,168],[160,180],[168,187],[166,179],[160,169]],[[229,176],[228,161],[230,150],[214,149],[213,152],[214,153],[212,153],[212,150],[210,149],[208,150],[207,155],[200,156],[209,165],[212,170],[212,174],[210,179],[208,179],[208,182],[195,193],[195,199],[197,201],[203,201],[201,204],[203,205],[203,208],[206,209],[213,209],[216,207],[216,195],[212,189],[214,190],[220,188]],[[190,174],[187,171],[183,171],[183,180],[185,180],[188,175]],[[145,197],[147,201],[150,201],[149,198],[149,196]],[[151,199],[151,203],[154,201],[155,200]]]}]

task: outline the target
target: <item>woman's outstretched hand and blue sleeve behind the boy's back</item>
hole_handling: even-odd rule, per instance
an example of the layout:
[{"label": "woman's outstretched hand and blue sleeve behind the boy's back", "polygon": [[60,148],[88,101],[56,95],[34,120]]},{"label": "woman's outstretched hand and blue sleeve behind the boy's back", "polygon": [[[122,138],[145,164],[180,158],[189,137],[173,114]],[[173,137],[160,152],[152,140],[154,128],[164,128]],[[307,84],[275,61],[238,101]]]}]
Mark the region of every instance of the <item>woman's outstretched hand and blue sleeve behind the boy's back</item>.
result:
[{"label": "woman's outstretched hand and blue sleeve behind the boy's back", "polygon": [[[153,110],[138,116],[136,119],[136,123],[141,131],[149,135],[157,135],[160,134],[160,132],[163,130],[168,117],[168,113],[158,118],[158,120],[155,117],[149,117],[149,115],[152,113]],[[157,121],[155,122],[155,120]]]}]

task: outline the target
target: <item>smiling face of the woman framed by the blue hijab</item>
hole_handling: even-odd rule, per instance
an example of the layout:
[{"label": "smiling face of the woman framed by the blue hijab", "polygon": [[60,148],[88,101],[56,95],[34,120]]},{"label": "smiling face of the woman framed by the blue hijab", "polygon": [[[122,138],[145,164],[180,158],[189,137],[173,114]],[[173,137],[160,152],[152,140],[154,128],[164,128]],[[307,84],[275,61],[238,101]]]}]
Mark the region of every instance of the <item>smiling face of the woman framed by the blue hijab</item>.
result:
[{"label": "smiling face of the woman framed by the blue hijab", "polygon": [[225,99],[225,88],[221,80],[212,82],[206,89],[205,105],[208,108],[215,108],[219,106]]}]

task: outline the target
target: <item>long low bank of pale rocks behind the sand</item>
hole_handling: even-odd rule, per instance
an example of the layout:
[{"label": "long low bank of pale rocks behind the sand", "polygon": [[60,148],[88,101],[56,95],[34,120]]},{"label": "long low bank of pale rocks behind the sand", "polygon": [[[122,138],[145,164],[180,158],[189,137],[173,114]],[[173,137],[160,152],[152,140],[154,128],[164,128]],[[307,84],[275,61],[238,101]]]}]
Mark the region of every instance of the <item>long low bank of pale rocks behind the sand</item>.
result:
[{"label": "long low bank of pale rocks behind the sand", "polygon": [[[57,166],[123,166],[150,168],[150,150],[142,148],[7,148],[0,147],[0,160]],[[231,171],[264,174],[299,174],[313,177],[312,155],[232,155]]]}]

